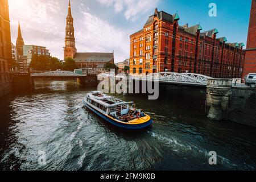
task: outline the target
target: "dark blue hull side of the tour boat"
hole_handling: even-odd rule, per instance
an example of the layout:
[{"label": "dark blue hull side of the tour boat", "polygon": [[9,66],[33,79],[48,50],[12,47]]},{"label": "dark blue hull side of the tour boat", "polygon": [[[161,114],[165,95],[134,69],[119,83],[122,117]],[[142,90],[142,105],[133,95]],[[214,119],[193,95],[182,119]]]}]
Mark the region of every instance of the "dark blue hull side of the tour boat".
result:
[{"label": "dark blue hull side of the tour boat", "polygon": [[99,111],[93,109],[92,107],[90,107],[88,104],[85,103],[85,101],[82,101],[82,103],[91,111],[93,111],[93,113],[97,114],[98,116],[100,116],[102,119],[104,119],[105,121],[108,121],[110,123],[112,123],[115,126],[118,127],[122,127],[124,129],[130,129],[130,130],[139,130],[139,129],[144,129],[148,126],[150,126],[152,124],[152,119],[150,119],[148,122],[142,123],[142,124],[138,124],[138,125],[129,125],[129,124],[123,124],[123,123],[119,123],[117,121],[114,121],[113,119],[106,117],[106,115],[100,113]]}]

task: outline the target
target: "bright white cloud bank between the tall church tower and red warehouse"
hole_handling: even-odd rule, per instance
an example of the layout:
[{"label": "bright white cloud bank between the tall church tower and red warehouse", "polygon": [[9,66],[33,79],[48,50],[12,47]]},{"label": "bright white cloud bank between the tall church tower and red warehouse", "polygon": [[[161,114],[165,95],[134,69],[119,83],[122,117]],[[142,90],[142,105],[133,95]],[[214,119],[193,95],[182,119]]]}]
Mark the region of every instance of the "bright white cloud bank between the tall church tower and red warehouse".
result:
[{"label": "bright white cloud bank between the tall church tower and red warehouse", "polygon": [[115,52],[115,61],[129,57],[129,31],[102,20],[97,15],[81,10],[82,19],[76,30],[79,52]]}]

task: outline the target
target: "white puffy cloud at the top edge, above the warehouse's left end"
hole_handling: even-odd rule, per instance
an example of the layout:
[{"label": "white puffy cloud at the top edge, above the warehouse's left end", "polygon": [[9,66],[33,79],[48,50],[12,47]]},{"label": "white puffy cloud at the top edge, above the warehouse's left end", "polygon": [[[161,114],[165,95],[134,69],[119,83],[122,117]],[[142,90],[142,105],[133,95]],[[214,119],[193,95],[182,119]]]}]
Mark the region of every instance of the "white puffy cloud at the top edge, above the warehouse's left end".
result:
[{"label": "white puffy cloud at the top edge, above the warehouse's left end", "polygon": [[114,6],[115,13],[124,11],[127,20],[136,20],[141,14],[154,9],[160,0],[98,0],[102,5]]}]

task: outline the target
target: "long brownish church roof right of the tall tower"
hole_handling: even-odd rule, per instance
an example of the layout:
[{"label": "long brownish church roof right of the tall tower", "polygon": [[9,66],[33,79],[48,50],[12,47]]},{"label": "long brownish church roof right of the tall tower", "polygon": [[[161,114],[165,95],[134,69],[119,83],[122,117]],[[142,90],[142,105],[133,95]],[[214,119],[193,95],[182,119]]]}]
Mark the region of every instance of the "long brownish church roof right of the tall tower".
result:
[{"label": "long brownish church roof right of the tall tower", "polygon": [[102,52],[77,52],[74,60],[77,62],[108,63],[114,59],[114,53]]}]

